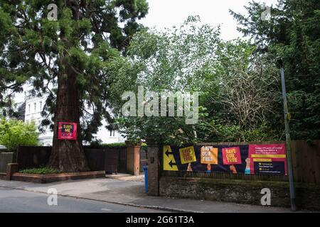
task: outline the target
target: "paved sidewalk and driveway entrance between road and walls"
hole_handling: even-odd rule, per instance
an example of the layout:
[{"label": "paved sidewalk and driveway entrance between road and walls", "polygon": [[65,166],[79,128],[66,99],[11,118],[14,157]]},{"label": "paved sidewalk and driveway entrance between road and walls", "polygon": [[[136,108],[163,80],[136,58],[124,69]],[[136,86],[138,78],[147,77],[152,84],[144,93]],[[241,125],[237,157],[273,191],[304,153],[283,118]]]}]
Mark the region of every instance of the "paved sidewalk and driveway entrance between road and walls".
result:
[{"label": "paved sidewalk and driveway entrance between road and walls", "polygon": [[144,193],[144,183],[124,181],[119,179],[100,178],[70,180],[50,184],[35,184],[30,182],[0,180],[0,187],[23,189],[31,192],[46,193],[55,188],[58,195],[73,196],[82,199],[108,201],[115,204],[142,206],[166,211],[191,212],[289,212],[289,209],[233,204],[218,201],[199,201],[193,199],[172,199],[158,196],[147,196]]}]

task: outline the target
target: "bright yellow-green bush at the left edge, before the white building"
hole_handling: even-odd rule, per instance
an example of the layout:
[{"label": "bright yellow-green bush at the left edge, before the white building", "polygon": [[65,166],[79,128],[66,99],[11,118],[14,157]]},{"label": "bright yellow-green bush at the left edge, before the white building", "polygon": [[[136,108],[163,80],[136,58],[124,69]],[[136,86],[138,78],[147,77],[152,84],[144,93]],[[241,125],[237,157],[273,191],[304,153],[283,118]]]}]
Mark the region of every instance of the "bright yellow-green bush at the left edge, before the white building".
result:
[{"label": "bright yellow-green bush at the left edge, before the white building", "polygon": [[19,145],[39,145],[35,124],[1,118],[0,144],[5,145],[9,151],[15,151]]}]

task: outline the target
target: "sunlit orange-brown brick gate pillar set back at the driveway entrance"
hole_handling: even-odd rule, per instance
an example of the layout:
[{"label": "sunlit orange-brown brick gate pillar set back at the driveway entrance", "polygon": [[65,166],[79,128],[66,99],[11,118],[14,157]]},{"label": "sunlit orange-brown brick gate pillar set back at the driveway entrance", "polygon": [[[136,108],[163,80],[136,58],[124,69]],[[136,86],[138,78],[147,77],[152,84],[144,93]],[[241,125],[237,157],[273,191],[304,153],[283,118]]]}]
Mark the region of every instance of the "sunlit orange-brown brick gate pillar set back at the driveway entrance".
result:
[{"label": "sunlit orange-brown brick gate pillar set back at the driveway entrance", "polygon": [[140,145],[129,143],[127,145],[127,173],[138,176],[140,174]]}]

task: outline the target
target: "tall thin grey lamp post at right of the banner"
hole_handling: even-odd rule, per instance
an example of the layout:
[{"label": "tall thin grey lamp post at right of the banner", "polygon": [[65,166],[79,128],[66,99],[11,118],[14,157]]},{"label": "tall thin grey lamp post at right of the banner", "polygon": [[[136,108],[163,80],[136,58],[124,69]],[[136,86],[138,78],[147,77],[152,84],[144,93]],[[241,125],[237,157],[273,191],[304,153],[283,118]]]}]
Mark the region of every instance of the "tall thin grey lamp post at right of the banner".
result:
[{"label": "tall thin grey lamp post at right of the banner", "polygon": [[290,202],[291,202],[291,210],[296,211],[296,193],[294,190],[294,176],[292,170],[292,158],[291,158],[291,150],[290,150],[290,129],[289,129],[289,118],[290,114],[288,111],[287,104],[287,92],[286,85],[284,80],[284,67],[281,57],[277,57],[277,65],[280,68],[281,74],[281,84],[282,84],[282,98],[283,98],[283,111],[284,111],[284,126],[286,131],[286,150],[287,150],[287,167],[288,167],[288,175],[289,175],[289,189],[290,189]]}]

